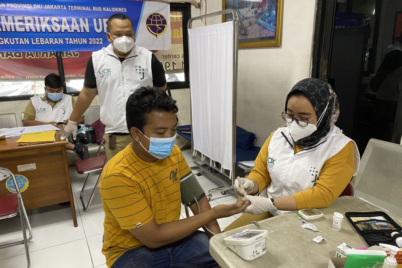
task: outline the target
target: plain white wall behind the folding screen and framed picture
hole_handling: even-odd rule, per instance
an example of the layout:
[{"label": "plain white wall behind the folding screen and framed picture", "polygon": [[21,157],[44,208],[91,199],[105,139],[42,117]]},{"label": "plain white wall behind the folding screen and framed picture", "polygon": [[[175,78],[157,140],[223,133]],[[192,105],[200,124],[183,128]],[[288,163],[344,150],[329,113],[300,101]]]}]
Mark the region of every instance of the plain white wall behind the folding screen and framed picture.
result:
[{"label": "plain white wall behind the folding screen and framed picture", "polygon": [[[207,0],[207,13],[219,10],[221,1]],[[258,146],[284,123],[280,113],[290,88],[310,76],[315,11],[315,0],[284,0],[281,47],[239,49],[237,124],[257,135]],[[199,10],[192,8],[191,15],[199,16]],[[220,17],[207,19],[208,25],[219,22]],[[181,122],[189,123],[188,90],[172,95]]]}]

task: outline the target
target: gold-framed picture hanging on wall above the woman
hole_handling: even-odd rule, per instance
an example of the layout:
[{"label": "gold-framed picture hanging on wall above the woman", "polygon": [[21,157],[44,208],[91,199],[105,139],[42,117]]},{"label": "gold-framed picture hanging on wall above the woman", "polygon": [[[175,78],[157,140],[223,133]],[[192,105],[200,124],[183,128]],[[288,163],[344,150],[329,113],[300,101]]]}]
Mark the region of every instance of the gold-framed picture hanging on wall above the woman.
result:
[{"label": "gold-framed picture hanging on wall above the woman", "polygon": [[239,15],[239,48],[280,46],[283,0],[222,0],[222,8]]}]

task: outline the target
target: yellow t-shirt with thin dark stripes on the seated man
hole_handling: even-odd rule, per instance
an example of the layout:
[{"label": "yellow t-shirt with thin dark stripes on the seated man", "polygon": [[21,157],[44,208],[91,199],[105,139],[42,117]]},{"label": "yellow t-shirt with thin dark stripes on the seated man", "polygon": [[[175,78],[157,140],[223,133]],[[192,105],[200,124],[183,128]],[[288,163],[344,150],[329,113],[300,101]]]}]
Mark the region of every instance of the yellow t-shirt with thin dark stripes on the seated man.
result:
[{"label": "yellow t-shirt with thin dark stripes on the seated man", "polygon": [[191,174],[175,145],[169,157],[149,163],[137,156],[131,143],[108,161],[99,183],[105,211],[104,245],[106,264],[128,249],[143,244],[130,233],[152,219],[158,224],[180,219],[180,179]]}]

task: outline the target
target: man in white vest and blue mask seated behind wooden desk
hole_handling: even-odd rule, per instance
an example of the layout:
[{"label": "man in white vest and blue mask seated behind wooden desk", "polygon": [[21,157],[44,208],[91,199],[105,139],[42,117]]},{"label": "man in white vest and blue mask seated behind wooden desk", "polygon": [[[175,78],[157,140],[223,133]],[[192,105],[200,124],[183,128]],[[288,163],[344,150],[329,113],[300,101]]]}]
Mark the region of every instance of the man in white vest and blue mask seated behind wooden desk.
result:
[{"label": "man in white vest and blue mask seated behind wooden desk", "polygon": [[[66,124],[74,104],[71,95],[63,94],[60,76],[51,73],[45,77],[45,94],[31,98],[22,123],[24,127],[47,124],[56,126],[59,122]],[[83,122],[84,117],[81,117],[79,124]],[[81,159],[89,158],[88,148],[84,145],[68,143],[66,149],[76,152]]]}]

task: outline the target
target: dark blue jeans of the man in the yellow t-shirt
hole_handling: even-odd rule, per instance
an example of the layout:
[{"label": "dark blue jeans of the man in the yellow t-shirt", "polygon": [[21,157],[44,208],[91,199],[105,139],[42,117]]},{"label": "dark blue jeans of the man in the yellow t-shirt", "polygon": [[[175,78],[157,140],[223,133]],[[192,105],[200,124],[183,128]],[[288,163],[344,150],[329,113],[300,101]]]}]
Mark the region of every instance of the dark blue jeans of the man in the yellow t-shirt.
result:
[{"label": "dark blue jeans of the man in the yellow t-shirt", "polygon": [[140,246],[124,252],[112,268],[218,267],[210,255],[210,240],[202,231],[158,248]]}]

